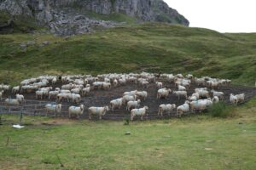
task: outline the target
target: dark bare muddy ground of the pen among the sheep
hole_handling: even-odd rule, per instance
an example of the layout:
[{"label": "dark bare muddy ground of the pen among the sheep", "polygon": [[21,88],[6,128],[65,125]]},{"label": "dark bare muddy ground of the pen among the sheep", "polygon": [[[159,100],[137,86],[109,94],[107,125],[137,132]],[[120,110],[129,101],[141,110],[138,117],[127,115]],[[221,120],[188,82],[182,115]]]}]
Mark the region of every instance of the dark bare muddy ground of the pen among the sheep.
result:
[{"label": "dark bare muddy ground of the pen among the sheep", "polygon": [[[58,82],[55,84],[54,88],[60,88],[62,85],[61,82]],[[171,88],[173,90],[177,90],[177,88],[174,86],[173,83],[169,82],[164,82],[165,87]],[[194,93],[195,88],[202,88],[201,86],[196,86],[195,83],[192,83],[192,86],[187,90],[188,91],[188,96]],[[104,105],[109,105],[110,100],[112,99],[117,99],[122,97],[122,94],[127,91],[131,90],[145,90],[148,92],[148,98],[145,100],[142,100],[141,107],[144,105],[147,105],[149,110],[148,110],[148,115],[145,116],[145,119],[157,119],[157,118],[170,118],[172,116],[176,116],[176,111],[172,111],[171,115],[168,116],[168,114],[164,114],[164,116],[157,116],[157,111],[158,107],[161,104],[176,104],[178,105],[183,105],[185,99],[177,99],[177,96],[174,94],[171,94],[168,96],[167,99],[156,99],[156,92],[157,88],[154,83],[150,83],[149,88],[143,88],[137,86],[137,84],[134,83],[128,83],[125,86],[119,86],[117,88],[111,88],[110,90],[93,90],[90,92],[89,95],[84,96],[80,102],[80,104],[84,104],[85,110],[84,110],[84,115],[80,116],[82,119],[88,119],[88,114],[87,114],[87,108],[90,106],[104,106]],[[220,87],[217,91],[224,92],[224,102],[227,104],[230,104],[229,98],[230,94],[241,94],[244,93],[246,96],[246,101],[248,99],[253,98],[254,95],[256,95],[256,88],[248,88],[248,87],[242,87],[242,86],[235,86],[235,85],[230,85],[226,87]],[[35,94],[23,94],[26,100],[26,105],[36,105],[37,102],[41,103],[41,106],[38,106],[38,108],[41,108],[42,111],[44,111],[44,105],[47,103],[54,103],[55,99],[42,99],[42,100],[36,100],[35,99]],[[15,98],[15,94],[11,94],[11,92],[6,92],[3,95],[3,98]],[[66,101],[61,102],[62,104],[62,110],[61,110],[61,115],[60,117],[67,117],[68,113],[68,107],[71,105],[76,105],[73,103],[67,103]],[[28,112],[36,112],[32,110],[28,110]],[[45,113],[44,113],[45,114]],[[189,113],[188,113],[189,114]],[[49,114],[50,115],[50,114]],[[53,113],[51,113],[51,116],[53,116]],[[130,111],[125,111],[125,106],[122,106],[120,110],[116,111],[108,111],[105,116],[102,116],[102,119],[105,120],[124,120],[125,117],[130,116]],[[97,119],[97,116],[93,116],[93,119]],[[139,117],[136,117],[135,119],[139,119]]]}]

